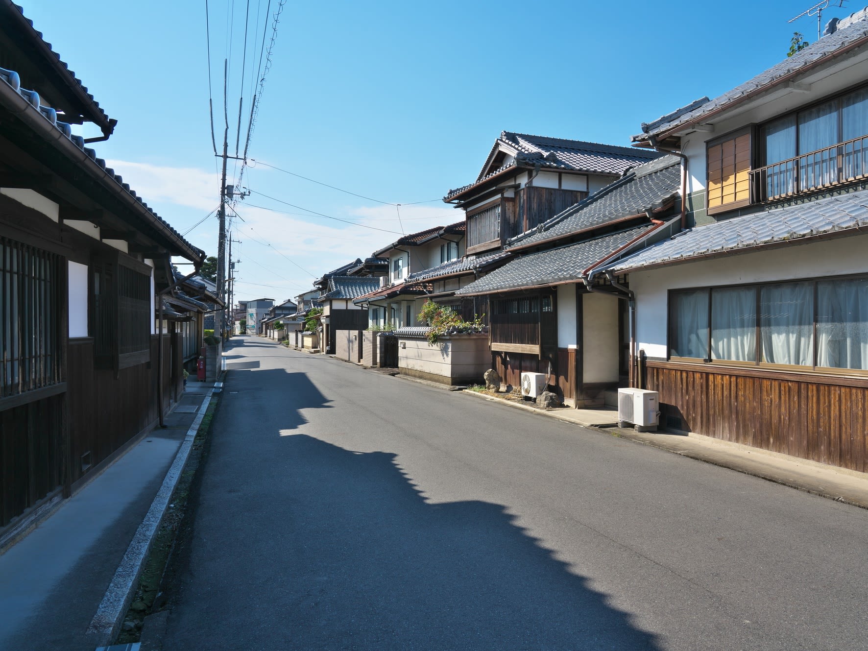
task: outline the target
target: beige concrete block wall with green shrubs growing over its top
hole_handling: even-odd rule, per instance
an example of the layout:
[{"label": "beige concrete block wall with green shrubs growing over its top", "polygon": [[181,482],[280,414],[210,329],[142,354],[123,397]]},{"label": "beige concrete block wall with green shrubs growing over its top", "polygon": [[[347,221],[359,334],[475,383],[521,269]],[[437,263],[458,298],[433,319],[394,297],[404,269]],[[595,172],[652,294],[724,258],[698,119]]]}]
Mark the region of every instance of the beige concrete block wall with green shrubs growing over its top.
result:
[{"label": "beige concrete block wall with green shrubs growing over its top", "polygon": [[423,337],[398,336],[398,370],[444,385],[481,382],[491,368],[487,334],[442,337],[430,345]]}]

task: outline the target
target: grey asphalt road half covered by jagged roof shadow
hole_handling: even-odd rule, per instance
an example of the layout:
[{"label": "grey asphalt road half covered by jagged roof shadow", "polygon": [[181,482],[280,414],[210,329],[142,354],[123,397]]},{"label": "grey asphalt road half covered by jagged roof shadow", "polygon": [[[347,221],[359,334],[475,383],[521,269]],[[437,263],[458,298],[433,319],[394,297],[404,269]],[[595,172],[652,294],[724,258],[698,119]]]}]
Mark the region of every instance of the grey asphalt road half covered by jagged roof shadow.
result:
[{"label": "grey asphalt road half covered by jagged roof shadow", "polygon": [[167,651],[868,648],[868,511],[238,342]]}]

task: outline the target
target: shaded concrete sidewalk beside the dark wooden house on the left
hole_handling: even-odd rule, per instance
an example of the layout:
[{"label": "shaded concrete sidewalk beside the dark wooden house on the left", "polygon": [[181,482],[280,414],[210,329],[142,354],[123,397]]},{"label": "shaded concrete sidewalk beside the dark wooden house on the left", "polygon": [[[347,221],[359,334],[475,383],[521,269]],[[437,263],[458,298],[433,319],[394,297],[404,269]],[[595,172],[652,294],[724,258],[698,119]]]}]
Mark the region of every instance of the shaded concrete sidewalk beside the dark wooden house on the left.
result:
[{"label": "shaded concrete sidewalk beside the dark wooden house on the left", "polygon": [[164,479],[213,389],[214,383],[188,380],[166,429],[148,432],[0,556],[0,648],[93,651],[109,643],[103,633],[89,632],[91,621],[109,585],[119,584],[115,573],[129,563],[131,542],[147,533],[142,526],[155,496],[165,492]]}]

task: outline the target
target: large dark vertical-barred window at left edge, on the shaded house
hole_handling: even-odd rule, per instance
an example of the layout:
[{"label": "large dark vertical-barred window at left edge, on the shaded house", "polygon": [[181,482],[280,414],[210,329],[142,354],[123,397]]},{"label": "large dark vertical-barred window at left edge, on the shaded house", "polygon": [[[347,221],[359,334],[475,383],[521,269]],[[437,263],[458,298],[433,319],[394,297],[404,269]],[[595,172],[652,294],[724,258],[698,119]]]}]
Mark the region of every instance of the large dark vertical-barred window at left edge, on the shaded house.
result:
[{"label": "large dark vertical-barred window at left edge, on the shaded house", "polygon": [[0,398],[62,382],[61,263],[0,237]]}]

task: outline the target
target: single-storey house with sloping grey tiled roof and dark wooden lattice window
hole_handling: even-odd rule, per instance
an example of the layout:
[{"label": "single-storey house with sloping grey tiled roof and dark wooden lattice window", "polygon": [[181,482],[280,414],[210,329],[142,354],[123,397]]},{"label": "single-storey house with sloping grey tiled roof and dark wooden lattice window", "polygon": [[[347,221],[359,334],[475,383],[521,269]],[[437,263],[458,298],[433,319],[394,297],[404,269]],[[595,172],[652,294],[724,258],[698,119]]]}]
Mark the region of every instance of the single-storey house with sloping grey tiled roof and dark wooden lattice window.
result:
[{"label": "single-storey house with sloping grey tiled roof and dark wooden lattice window", "polygon": [[[617,181],[505,243],[511,259],[461,287],[490,306],[492,367],[516,387],[544,373],[565,404],[591,407],[628,385],[630,312],[619,279],[589,270],[678,228],[681,164],[673,155]],[[622,279],[621,279],[622,280]],[[611,401],[611,393],[610,393]]]}]

